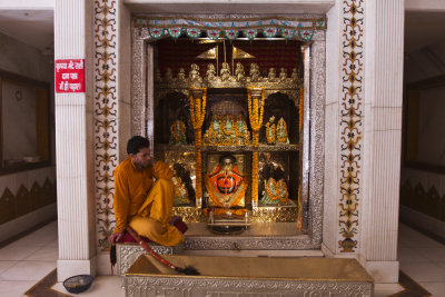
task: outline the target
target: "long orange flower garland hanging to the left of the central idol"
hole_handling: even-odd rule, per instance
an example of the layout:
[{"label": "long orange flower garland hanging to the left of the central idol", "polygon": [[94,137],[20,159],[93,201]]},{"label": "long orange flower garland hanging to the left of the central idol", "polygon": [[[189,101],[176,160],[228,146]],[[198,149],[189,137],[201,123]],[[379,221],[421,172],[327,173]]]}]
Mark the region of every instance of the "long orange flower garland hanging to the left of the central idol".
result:
[{"label": "long orange flower garland hanging to the left of the central idol", "polygon": [[195,130],[195,146],[196,146],[196,201],[197,206],[200,206],[201,192],[202,192],[202,157],[201,157],[201,128],[204,118],[206,116],[206,102],[207,102],[207,88],[199,88],[202,90],[202,98],[195,98],[195,87],[190,87],[189,91],[189,103],[190,103],[190,117],[191,123]]}]

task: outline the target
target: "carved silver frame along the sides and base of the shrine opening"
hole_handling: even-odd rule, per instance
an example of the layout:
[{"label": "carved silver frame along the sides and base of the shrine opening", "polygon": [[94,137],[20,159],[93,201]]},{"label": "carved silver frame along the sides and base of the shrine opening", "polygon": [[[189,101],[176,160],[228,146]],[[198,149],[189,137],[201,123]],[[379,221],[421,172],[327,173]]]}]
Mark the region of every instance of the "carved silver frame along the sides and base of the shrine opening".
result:
[{"label": "carved silver frame along the sides and base of the shrine opening", "polygon": [[[243,17],[243,16],[238,16]],[[325,101],[325,32],[316,31],[312,42],[307,43],[305,59],[305,106],[310,109],[304,116],[307,127],[306,155],[303,159],[306,175],[306,198],[303,204],[303,230],[306,236],[295,237],[187,237],[185,249],[234,249],[237,244],[244,249],[319,249],[323,226],[323,164],[324,164],[324,101]],[[154,121],[152,95],[146,89],[148,63],[144,60],[150,37],[146,29],[132,28],[132,132],[151,137]],[[297,96],[295,96],[297,97]],[[150,112],[147,112],[150,110]],[[306,112],[306,111],[305,111]],[[145,118],[142,118],[145,117]],[[149,128],[149,129],[147,129]],[[152,142],[151,142],[152,143]],[[305,150],[305,148],[303,149]],[[304,177],[305,178],[305,177]],[[304,179],[305,181],[305,179]]]}]

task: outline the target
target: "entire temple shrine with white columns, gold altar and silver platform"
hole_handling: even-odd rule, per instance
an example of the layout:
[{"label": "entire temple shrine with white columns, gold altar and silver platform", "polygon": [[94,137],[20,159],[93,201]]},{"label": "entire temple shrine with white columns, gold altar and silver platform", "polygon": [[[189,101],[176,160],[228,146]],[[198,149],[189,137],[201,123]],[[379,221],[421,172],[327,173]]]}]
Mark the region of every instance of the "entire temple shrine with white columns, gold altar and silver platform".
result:
[{"label": "entire temple shrine with white columns, gold altar and silver platform", "polygon": [[42,2],[59,73],[42,122],[58,280],[111,274],[113,171],[139,135],[174,170],[189,227],[151,247],[205,275],[121,244],[128,296],[372,296],[398,281],[404,1]]}]

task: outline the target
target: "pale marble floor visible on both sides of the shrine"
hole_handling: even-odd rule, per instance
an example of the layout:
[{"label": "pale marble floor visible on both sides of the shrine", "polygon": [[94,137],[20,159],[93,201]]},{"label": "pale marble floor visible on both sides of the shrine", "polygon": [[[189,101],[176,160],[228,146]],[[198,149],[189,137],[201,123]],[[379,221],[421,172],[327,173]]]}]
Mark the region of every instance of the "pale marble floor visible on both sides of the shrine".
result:
[{"label": "pale marble floor visible on both sides of the shrine", "polygon": [[[444,297],[445,246],[405,225],[399,226],[398,239],[400,270],[432,296]],[[0,248],[0,296],[27,296],[31,287],[53,271],[57,258],[57,221]],[[99,276],[80,296],[125,296],[120,285],[117,276]],[[403,290],[399,285],[377,284],[375,296],[389,296]],[[67,296],[61,283],[56,283],[48,293],[28,296]]]}]

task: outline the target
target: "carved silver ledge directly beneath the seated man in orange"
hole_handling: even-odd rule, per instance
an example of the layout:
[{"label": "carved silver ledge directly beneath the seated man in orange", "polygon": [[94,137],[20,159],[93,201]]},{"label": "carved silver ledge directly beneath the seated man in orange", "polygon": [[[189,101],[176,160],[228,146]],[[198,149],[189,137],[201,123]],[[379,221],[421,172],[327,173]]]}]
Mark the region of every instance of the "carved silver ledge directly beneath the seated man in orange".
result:
[{"label": "carved silver ledge directly beneath the seated man in orange", "polygon": [[[159,245],[150,245],[152,250],[159,255],[179,255],[182,254],[184,246],[178,245],[176,247],[165,247]],[[116,245],[116,274],[123,276],[128,268],[139,258],[140,255],[148,254],[138,244],[117,244]]]}]

